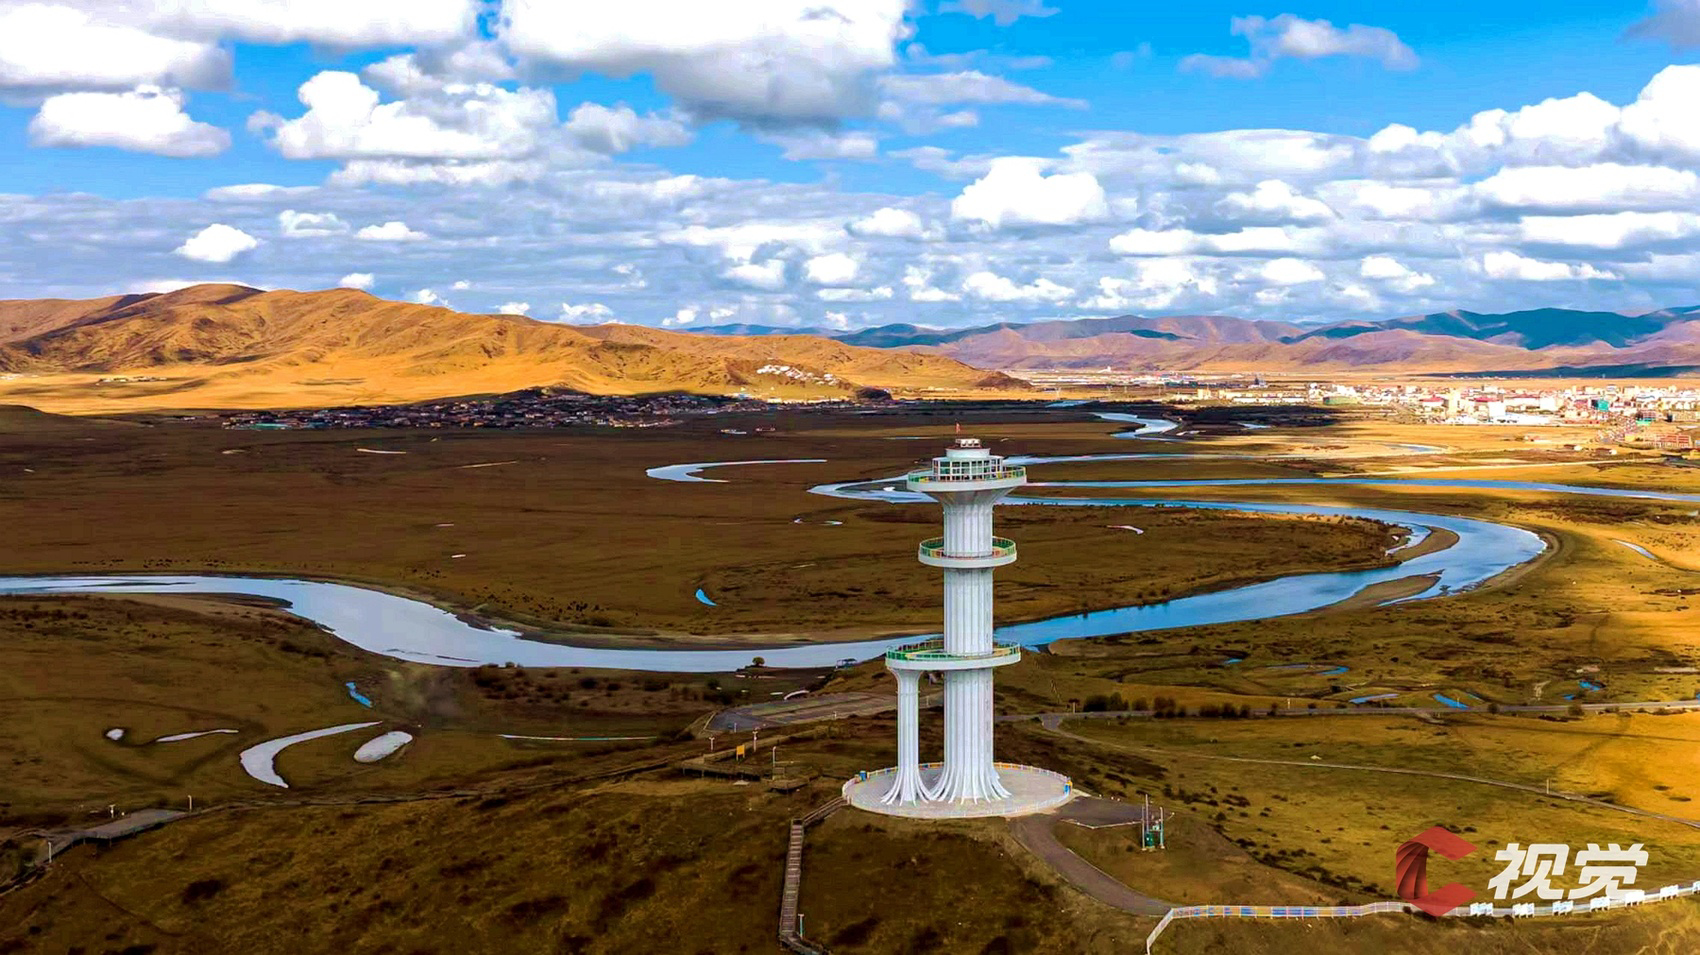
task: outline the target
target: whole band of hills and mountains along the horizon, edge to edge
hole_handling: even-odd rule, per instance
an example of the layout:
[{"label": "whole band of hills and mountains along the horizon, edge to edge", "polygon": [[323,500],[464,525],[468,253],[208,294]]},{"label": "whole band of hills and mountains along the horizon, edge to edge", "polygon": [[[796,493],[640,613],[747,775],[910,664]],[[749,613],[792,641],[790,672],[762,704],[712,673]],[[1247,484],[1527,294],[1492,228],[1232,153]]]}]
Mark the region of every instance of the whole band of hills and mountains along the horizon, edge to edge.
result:
[{"label": "whole band of hills and mountains along the horizon, edge to edge", "polygon": [[[1460,309],[1331,325],[1127,314],[955,330],[678,331],[468,314],[354,289],[209,284],[87,301],[0,301],[0,399],[105,411],[384,404],[537,386],[780,399],[988,394],[1027,387],[1003,370],[1105,367],[1688,376],[1700,374],[1700,306],[1640,314]],[[100,381],[114,377],[128,381]]]}]

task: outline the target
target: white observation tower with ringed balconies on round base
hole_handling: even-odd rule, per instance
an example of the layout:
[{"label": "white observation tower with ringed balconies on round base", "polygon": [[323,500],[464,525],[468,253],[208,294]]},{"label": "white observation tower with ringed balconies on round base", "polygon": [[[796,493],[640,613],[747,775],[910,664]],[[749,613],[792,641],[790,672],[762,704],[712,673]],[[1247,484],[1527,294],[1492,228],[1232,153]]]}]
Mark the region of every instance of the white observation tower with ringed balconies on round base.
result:
[{"label": "white observation tower with ringed balconies on round base", "polygon": [[[945,534],[921,540],[918,559],[944,569],[944,636],[889,651],[886,668],[898,681],[898,765],[845,783],[847,799],[899,816],[1005,816],[1066,802],[1068,778],[993,760],[991,673],[1022,658],[991,639],[991,573],[1015,562],[1015,542],[993,537],[991,508],[1027,483],[1027,469],[1005,461],[976,438],[957,438],[930,471],[908,476],[945,511]],[[921,763],[920,680],[944,678],[945,751],[942,763]]]}]

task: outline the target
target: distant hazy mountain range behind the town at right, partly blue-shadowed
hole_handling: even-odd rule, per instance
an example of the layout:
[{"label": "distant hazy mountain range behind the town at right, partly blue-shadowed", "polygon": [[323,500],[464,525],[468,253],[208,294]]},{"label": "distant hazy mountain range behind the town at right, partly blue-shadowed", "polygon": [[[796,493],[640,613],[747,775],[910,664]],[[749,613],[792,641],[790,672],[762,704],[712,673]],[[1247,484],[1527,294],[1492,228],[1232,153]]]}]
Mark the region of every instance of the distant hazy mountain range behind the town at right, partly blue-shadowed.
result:
[{"label": "distant hazy mountain range behind the town at right, partly blue-shadowed", "polygon": [[1425,374],[1686,374],[1700,367],[1700,306],[1642,314],[1445,311],[1391,321],[1294,325],[1221,314],[1080,318],[974,328],[858,331],[709,326],[699,335],[819,335],[910,348],[983,369],[1406,370]]}]

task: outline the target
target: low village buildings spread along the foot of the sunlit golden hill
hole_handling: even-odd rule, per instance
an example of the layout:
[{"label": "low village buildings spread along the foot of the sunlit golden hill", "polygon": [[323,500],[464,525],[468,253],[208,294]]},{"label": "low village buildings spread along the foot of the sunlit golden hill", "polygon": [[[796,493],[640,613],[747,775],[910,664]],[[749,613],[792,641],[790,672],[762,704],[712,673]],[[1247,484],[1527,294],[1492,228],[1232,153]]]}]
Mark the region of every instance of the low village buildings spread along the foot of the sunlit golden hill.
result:
[{"label": "low village buildings spread along the foot of the sunlit golden hill", "polygon": [[[756,411],[767,399],[712,394],[602,396],[529,389],[496,398],[456,398],[420,404],[371,404],[301,411],[236,411],[226,428],[661,428],[685,418]],[[850,404],[850,401],[843,401]]]}]

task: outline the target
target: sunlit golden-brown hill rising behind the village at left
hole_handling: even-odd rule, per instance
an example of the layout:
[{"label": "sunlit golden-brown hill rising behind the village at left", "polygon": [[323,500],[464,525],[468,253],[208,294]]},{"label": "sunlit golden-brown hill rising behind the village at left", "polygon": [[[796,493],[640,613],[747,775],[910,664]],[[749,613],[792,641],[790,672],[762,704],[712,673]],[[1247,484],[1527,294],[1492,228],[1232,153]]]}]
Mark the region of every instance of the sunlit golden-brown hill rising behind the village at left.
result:
[{"label": "sunlit golden-brown hill rising behind the village at left", "polygon": [[0,301],[0,396],[75,411],[398,403],[544,384],[775,398],[1015,386],[942,355],[806,335],[704,340],[241,285]]}]

